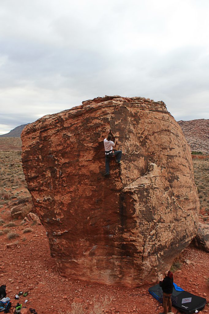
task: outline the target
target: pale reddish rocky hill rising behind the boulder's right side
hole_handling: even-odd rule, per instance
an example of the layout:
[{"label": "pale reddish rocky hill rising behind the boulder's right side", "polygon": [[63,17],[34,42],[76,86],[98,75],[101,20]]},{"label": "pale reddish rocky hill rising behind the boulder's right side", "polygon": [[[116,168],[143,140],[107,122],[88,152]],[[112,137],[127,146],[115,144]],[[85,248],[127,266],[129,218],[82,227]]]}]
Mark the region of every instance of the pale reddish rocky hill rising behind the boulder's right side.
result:
[{"label": "pale reddish rocky hill rising behind the boulder's right side", "polygon": [[191,151],[209,154],[209,119],[178,121]]}]

